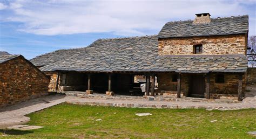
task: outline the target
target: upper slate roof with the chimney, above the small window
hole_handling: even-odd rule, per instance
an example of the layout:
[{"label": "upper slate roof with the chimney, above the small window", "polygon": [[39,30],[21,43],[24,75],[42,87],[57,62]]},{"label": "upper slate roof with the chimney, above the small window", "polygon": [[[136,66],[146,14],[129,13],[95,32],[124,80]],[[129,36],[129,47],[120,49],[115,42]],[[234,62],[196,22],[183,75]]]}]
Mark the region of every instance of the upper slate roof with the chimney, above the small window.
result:
[{"label": "upper slate roof with the chimney, above the small window", "polygon": [[211,18],[210,23],[192,24],[193,20],[168,22],[158,38],[241,34],[248,31],[248,15]]}]

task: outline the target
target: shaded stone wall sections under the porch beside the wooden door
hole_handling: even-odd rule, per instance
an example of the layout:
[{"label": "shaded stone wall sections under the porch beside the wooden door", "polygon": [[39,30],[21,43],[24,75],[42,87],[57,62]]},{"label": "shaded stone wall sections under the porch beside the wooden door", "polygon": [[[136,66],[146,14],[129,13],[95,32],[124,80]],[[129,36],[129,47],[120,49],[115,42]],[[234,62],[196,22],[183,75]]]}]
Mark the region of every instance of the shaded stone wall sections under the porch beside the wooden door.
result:
[{"label": "shaded stone wall sections under the porch beside the wooden door", "polygon": [[[177,73],[158,73],[158,95],[176,95],[177,82],[172,82],[172,75]],[[210,75],[211,99],[237,99],[238,74],[224,73],[224,83],[215,83],[215,73]],[[206,78],[205,78],[206,82]],[[181,74],[181,95],[188,96],[190,74]],[[205,84],[206,89],[206,84]],[[206,92],[206,91],[205,91]],[[245,93],[245,75],[242,80],[242,93]]]}]

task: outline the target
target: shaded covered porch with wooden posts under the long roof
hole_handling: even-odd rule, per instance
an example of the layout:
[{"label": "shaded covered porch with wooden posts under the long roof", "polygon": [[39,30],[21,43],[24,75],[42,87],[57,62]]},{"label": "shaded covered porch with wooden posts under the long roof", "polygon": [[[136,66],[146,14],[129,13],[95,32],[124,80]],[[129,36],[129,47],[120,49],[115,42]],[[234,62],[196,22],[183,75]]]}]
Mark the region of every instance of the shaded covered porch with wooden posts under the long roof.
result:
[{"label": "shaded covered porch with wooden posts under the long roof", "polygon": [[[59,92],[242,100],[244,73],[58,72]],[[70,75],[69,75],[70,74]],[[74,76],[73,74],[76,74]],[[70,77],[77,77],[70,80]],[[136,81],[137,76],[144,78]],[[73,86],[69,86],[71,85]],[[76,84],[74,83],[77,82]],[[65,84],[64,84],[65,83]],[[143,91],[142,85],[145,85]]]}]

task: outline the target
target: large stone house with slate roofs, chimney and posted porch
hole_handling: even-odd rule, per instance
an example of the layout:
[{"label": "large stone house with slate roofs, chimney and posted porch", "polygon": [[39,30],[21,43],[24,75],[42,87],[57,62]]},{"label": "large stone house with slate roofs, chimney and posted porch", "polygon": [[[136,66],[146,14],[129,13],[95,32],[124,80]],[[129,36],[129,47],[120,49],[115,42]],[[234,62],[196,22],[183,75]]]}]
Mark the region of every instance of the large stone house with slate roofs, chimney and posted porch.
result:
[{"label": "large stone house with slate roofs, chimney and posted porch", "polygon": [[242,100],[247,36],[247,15],[200,13],[166,23],[157,35],[98,39],[31,62],[51,76],[49,91],[137,95],[134,75],[145,75],[145,95]]}]

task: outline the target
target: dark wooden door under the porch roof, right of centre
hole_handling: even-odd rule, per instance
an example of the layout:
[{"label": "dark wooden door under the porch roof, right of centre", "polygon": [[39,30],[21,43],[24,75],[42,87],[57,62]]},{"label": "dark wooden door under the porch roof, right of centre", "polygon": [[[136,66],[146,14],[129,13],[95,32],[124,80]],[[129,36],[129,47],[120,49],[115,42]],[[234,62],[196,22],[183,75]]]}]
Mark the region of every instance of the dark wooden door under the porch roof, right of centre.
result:
[{"label": "dark wooden door under the porch roof, right of centre", "polygon": [[191,75],[189,94],[192,97],[204,98],[205,78],[203,75]]}]

